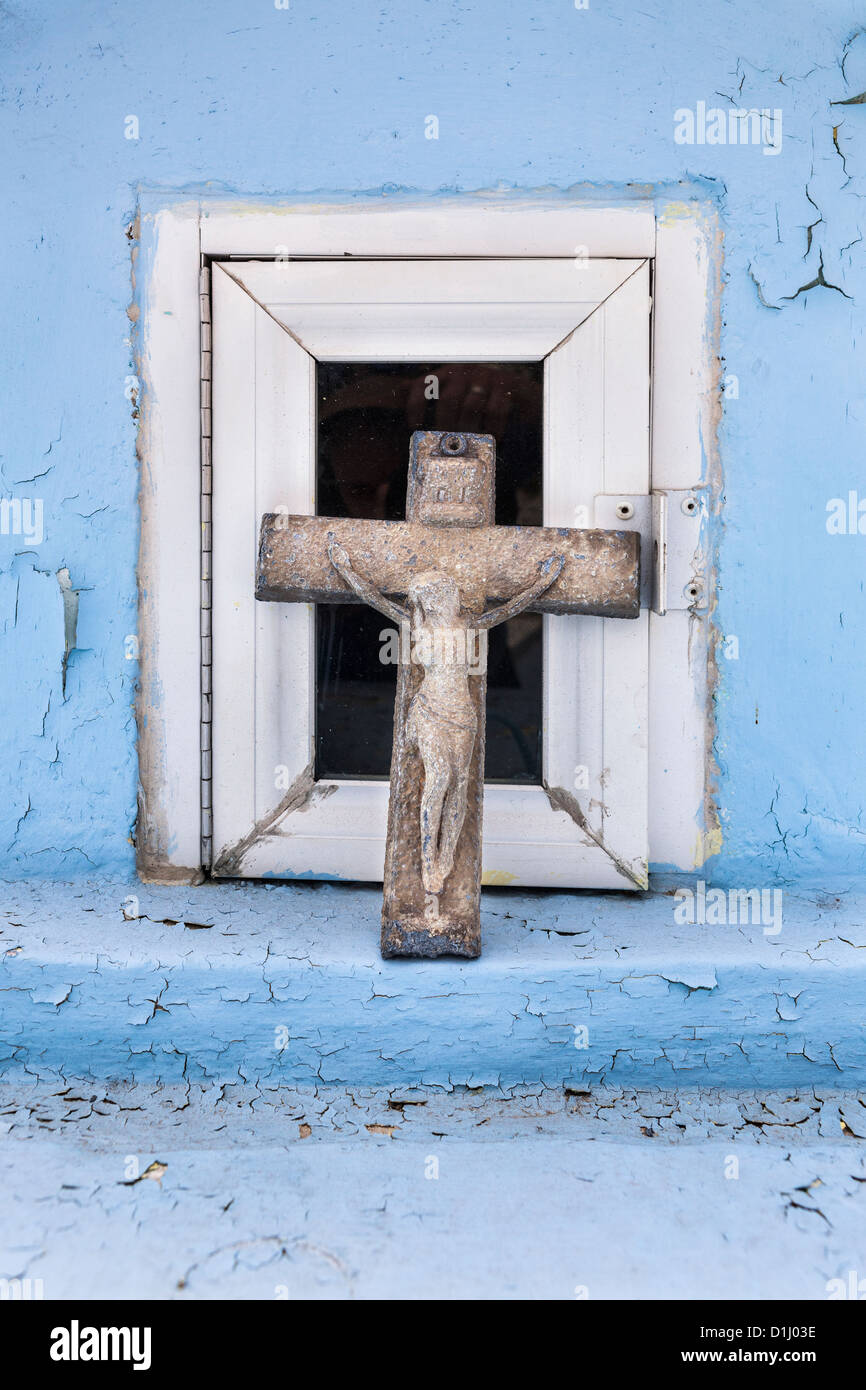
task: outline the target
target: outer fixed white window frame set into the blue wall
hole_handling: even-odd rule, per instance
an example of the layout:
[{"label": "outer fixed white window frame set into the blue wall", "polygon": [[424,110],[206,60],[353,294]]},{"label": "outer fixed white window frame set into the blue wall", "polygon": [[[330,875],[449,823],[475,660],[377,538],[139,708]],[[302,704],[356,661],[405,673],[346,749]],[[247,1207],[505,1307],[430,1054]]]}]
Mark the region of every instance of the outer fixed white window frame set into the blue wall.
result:
[{"label": "outer fixed white window frame set into the blue wall", "polygon": [[[706,207],[696,203],[656,211],[649,203],[594,207],[562,199],[514,197],[489,203],[436,199],[396,204],[371,202],[350,210],[293,206],[239,211],[236,204],[218,200],[164,206],[161,199],[145,199],[140,240],[146,279],[139,348],[145,388],[139,872],[147,878],[172,880],[200,873],[200,777],[203,759],[206,767],[210,762],[210,749],[199,746],[200,527],[210,524],[210,517],[200,514],[200,439],[202,416],[211,406],[200,370],[200,349],[206,359],[210,352],[207,322],[202,328],[202,259],[279,257],[291,249],[293,257],[311,259],[342,257],[349,252],[359,259],[395,260],[441,259],[448,253],[449,257],[485,259],[589,254],[591,259],[651,261],[655,285],[652,486],[683,489],[712,482],[703,474],[703,464],[706,457],[712,459],[713,439],[716,361],[708,306],[710,291],[714,292],[716,228]],[[231,264],[225,271],[231,272]],[[506,331],[510,329],[509,324]],[[275,331],[282,334],[282,329]],[[585,335],[584,342],[589,346],[591,335]],[[346,356],[345,348],[343,342],[329,356]],[[491,356],[487,350],[478,354]],[[524,352],[516,348],[513,356],[521,357]],[[575,424],[580,428],[580,421]],[[557,485],[556,477],[545,478],[548,505],[553,509]],[[548,516],[559,524],[571,521],[570,516],[560,520],[555,510]],[[260,607],[271,607],[274,613],[264,621],[286,621],[278,606]],[[282,609],[282,614],[286,612]],[[549,627],[571,620],[545,621]],[[601,621],[584,620],[589,626]],[[642,728],[641,710],[635,712],[635,727],[638,737],[649,734],[649,758],[648,784],[638,785],[632,799],[648,798],[651,860],[692,869],[716,848],[705,773],[706,610],[670,612],[663,617],[644,613],[638,623],[646,623],[649,632],[649,712]],[[606,626],[613,627],[610,620]],[[546,688],[552,688],[550,682]],[[206,691],[204,698],[209,695]],[[563,767],[566,763],[573,767],[573,751],[563,751]],[[385,784],[354,784],[359,785],[379,788],[375,795],[386,795]],[[512,791],[488,790],[487,826],[496,816],[492,802]],[[524,791],[545,798],[541,788]],[[349,806],[352,796],[343,799],[343,823],[357,824],[363,808]],[[627,805],[620,805],[627,815]],[[553,813],[549,806],[548,812],[569,821],[573,834],[575,827],[570,817]],[[518,808],[517,815],[520,819]],[[616,849],[613,838],[609,844]],[[552,849],[550,858],[556,853]],[[563,858],[562,845],[559,858]],[[642,885],[639,866],[635,872],[632,865],[630,873],[623,874],[616,855],[609,856],[609,863],[612,872],[607,878],[603,873],[596,876],[598,887]],[[507,870],[499,876],[495,867],[489,878],[527,881],[521,866],[517,869],[514,876]],[[569,876],[544,878],[535,874],[528,881],[567,884]]]}]

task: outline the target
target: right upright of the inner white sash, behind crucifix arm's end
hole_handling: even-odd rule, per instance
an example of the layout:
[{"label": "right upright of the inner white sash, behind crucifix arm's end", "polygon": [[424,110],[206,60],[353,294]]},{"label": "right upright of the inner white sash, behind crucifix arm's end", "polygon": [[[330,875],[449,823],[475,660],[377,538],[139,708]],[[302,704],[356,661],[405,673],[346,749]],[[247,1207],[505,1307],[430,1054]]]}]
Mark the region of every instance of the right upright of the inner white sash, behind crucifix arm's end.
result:
[{"label": "right upright of the inner white sash, behind crucifix arm's end", "polygon": [[[649,491],[646,263],[546,371],[545,524],[585,525],[596,493]],[[575,887],[596,884],[602,856],[628,867],[620,887],[646,878],[648,659],[645,612],[628,623],[545,619],[545,781],[574,798],[599,841],[592,877],[582,877],[581,863]]]}]

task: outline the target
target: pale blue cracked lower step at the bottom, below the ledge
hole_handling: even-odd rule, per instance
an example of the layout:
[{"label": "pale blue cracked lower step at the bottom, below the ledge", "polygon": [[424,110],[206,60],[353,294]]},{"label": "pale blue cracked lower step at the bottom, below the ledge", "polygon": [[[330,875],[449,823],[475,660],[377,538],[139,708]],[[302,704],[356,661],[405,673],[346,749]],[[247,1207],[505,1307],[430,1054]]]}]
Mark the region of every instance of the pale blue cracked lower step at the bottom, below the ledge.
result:
[{"label": "pale blue cracked lower step at the bottom, below the ledge", "polygon": [[0,1086],[0,1276],[46,1298],[823,1300],[866,1259],[863,1134],[859,1098],[819,1087]]}]

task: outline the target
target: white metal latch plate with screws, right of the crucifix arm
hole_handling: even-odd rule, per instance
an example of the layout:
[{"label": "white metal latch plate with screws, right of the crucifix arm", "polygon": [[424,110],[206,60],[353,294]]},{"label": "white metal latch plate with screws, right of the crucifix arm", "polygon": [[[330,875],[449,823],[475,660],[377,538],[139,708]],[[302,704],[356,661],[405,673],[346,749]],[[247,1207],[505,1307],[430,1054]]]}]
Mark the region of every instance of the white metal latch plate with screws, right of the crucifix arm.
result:
[{"label": "white metal latch plate with screws, right of the crucifix arm", "polygon": [[706,606],[703,488],[612,492],[595,499],[595,525],[641,532],[641,607],[653,613]]}]

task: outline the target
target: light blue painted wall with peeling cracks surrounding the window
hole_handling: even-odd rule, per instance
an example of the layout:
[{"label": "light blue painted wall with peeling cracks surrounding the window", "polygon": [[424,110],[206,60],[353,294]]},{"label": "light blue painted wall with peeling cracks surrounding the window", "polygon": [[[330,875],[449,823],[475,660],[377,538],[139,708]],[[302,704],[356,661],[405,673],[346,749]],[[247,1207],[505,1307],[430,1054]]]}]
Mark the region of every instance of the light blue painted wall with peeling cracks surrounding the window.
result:
[{"label": "light blue painted wall with peeling cracks surrounding the window", "polygon": [[[0,498],[44,507],[42,543],[0,534],[3,876],[133,863],[125,229],[139,186],[698,178],[726,228],[723,349],[738,386],[721,428],[719,619],[738,659],[720,660],[713,873],[830,888],[860,874],[866,535],[826,527],[828,499],[866,498],[866,104],[852,100],[866,92],[866,32],[853,3],[13,0],[0,32]],[[698,101],[780,108],[780,152],[677,143],[674,113]],[[424,138],[428,114],[438,140]],[[64,632],[64,569],[76,632]]]}]

